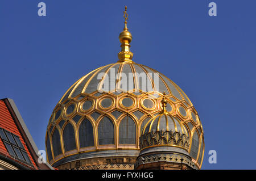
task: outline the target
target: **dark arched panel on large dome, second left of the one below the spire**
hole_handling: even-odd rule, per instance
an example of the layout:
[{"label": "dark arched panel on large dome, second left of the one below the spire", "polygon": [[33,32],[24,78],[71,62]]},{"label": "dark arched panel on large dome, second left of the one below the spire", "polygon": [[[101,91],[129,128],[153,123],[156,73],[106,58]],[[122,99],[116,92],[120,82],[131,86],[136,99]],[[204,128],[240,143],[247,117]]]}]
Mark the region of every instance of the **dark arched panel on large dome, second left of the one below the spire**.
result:
[{"label": "dark arched panel on large dome, second left of the one below the spire", "polygon": [[93,127],[88,119],[82,120],[79,127],[80,148],[94,146]]}]

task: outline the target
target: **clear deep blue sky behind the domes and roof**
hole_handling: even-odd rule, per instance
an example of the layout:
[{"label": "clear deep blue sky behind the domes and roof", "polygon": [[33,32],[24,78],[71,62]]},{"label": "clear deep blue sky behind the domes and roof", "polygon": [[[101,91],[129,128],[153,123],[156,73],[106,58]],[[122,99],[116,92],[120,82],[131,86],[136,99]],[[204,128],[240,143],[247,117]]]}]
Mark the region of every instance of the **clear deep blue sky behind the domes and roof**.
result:
[{"label": "clear deep blue sky behind the domes and roof", "polygon": [[255,169],[255,0],[1,0],[0,98],[14,99],[38,148],[64,92],[117,61],[125,5],[134,61],[167,75],[199,112],[203,169]]}]

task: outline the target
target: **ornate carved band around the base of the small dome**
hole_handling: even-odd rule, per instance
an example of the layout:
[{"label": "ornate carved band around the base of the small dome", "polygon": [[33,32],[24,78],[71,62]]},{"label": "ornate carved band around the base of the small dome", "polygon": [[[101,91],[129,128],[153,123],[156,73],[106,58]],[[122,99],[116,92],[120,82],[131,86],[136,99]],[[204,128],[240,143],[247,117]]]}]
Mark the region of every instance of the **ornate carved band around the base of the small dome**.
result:
[{"label": "ornate carved band around the base of the small dome", "polygon": [[188,151],[189,137],[180,132],[156,131],[144,133],[139,137],[139,148],[147,148],[154,145],[180,146]]}]

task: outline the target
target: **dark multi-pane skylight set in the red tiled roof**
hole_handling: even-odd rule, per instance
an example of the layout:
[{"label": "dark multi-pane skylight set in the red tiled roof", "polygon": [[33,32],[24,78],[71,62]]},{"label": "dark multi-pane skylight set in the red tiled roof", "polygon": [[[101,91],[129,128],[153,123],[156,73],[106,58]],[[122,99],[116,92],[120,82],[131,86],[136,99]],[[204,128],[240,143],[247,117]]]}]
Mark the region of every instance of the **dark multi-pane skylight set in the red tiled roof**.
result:
[{"label": "dark multi-pane skylight set in the red tiled roof", "polygon": [[19,136],[16,136],[3,128],[0,128],[0,136],[3,144],[11,156],[19,158],[24,162],[31,163],[31,160],[28,157],[27,151],[24,149]]}]

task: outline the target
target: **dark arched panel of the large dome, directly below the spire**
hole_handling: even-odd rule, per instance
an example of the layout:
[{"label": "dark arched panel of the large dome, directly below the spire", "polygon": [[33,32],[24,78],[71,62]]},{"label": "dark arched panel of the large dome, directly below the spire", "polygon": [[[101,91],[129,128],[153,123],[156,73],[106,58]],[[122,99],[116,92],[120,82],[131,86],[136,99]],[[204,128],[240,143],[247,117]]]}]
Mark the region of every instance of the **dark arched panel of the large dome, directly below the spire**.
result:
[{"label": "dark arched panel of the large dome, directly below the spire", "polygon": [[119,144],[136,144],[136,126],[130,116],[125,116],[119,125]]}]

